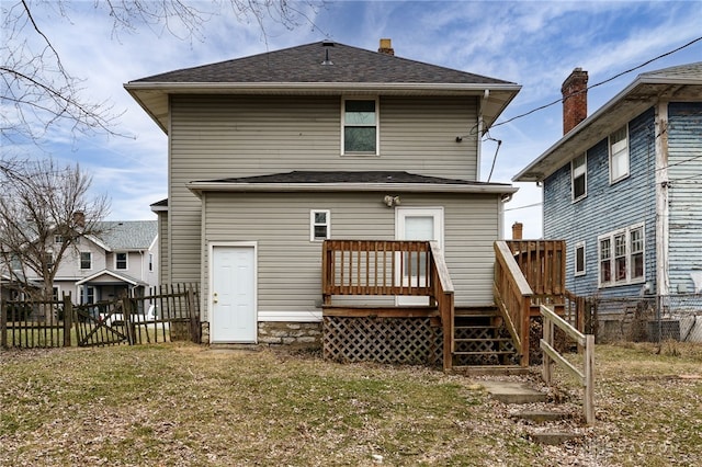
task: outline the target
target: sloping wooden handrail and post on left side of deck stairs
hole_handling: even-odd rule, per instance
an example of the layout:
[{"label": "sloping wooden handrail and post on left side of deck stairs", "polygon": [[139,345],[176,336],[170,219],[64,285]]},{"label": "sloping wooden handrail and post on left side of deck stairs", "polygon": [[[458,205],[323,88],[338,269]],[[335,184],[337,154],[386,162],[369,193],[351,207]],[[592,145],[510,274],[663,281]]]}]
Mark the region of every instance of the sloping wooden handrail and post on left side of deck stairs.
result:
[{"label": "sloping wooden handrail and post on left side of deck stairs", "polygon": [[450,371],[453,366],[452,355],[454,351],[455,304],[453,282],[451,281],[443,252],[439,248],[439,242],[430,241],[429,249],[431,252],[431,296],[437,301],[443,330],[443,369]]}]

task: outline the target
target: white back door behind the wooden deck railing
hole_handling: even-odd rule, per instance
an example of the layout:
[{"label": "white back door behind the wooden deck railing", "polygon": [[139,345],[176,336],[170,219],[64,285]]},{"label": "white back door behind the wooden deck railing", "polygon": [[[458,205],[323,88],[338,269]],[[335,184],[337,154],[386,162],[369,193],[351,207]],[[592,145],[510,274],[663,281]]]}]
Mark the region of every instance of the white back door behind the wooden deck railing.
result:
[{"label": "white back door behind the wooden deck railing", "polygon": [[[439,242],[439,248],[443,248],[443,208],[398,207],[395,238],[397,240],[435,240]],[[418,266],[416,261],[405,260],[401,284],[426,286],[426,257],[422,257]],[[429,305],[429,298],[398,296],[397,305]]]}]

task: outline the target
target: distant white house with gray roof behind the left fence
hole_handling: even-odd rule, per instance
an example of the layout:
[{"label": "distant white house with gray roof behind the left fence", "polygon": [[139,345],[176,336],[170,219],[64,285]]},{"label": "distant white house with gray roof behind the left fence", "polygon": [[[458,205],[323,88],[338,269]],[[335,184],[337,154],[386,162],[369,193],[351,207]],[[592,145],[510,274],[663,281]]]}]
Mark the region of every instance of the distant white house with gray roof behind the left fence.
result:
[{"label": "distant white house with gray roof behind the left fence", "polygon": [[[118,298],[124,292],[143,295],[158,284],[156,220],[102,221],[100,236],[80,237],[61,259],[54,278],[54,296],[71,294],[73,303],[92,304]],[[60,236],[47,252],[57,250]],[[41,284],[41,277],[27,277]]]}]

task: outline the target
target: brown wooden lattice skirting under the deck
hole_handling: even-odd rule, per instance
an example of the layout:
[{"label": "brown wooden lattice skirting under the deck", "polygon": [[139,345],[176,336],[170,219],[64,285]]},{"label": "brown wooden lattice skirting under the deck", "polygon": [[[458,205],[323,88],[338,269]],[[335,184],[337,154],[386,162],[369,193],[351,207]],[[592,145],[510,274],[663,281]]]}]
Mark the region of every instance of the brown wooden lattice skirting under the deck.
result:
[{"label": "brown wooden lattice skirting under the deck", "polygon": [[324,317],[324,356],[337,362],[441,365],[442,345],[429,318]]}]

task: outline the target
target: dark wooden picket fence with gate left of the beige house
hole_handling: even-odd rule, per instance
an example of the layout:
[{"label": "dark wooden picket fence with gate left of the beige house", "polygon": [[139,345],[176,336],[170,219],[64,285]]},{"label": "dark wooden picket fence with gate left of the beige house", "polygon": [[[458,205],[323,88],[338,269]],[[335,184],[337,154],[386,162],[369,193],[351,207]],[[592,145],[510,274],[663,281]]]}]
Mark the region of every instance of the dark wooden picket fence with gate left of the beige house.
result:
[{"label": "dark wooden picket fence with gate left of the beige house", "polygon": [[2,300],[2,348],[58,348],[201,342],[199,287],[162,285],[145,296],[73,305],[61,300]]}]

